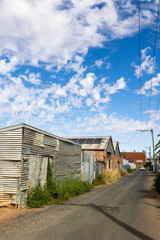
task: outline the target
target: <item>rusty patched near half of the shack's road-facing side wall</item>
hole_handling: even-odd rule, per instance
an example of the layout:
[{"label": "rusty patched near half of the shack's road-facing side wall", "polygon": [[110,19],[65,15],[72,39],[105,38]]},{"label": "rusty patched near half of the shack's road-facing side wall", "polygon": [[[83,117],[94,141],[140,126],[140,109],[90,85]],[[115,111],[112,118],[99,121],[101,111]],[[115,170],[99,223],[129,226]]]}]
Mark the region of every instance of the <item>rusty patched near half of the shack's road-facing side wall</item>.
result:
[{"label": "rusty patched near half of the shack's road-facing side wall", "polygon": [[[22,172],[27,192],[35,186],[44,186],[47,177],[48,157],[55,154],[58,140],[47,136],[44,133],[39,133],[36,130],[24,128],[23,138],[23,160],[26,161],[27,174]],[[21,192],[22,203],[26,204],[25,189]]]}]

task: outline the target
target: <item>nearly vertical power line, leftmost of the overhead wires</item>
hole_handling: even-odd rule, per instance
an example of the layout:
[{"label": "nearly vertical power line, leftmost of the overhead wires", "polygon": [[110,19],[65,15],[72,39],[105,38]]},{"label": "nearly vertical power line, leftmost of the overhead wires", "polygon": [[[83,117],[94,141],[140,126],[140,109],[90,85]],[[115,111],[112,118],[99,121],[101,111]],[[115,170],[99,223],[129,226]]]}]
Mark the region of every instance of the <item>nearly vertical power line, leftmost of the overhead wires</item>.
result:
[{"label": "nearly vertical power line, leftmost of the overhead wires", "polygon": [[140,0],[138,1],[138,22],[139,22],[139,80],[140,80],[140,116],[141,116],[141,129],[142,129],[142,74],[141,74],[141,6]]}]

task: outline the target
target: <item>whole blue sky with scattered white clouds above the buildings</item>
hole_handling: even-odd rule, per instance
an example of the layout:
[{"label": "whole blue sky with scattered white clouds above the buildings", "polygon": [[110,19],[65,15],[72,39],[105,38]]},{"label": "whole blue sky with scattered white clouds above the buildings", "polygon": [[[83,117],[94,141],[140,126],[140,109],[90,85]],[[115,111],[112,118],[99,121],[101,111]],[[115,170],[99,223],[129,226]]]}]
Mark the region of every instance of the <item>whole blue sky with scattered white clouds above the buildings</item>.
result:
[{"label": "whole blue sky with scattered white clouds above the buildings", "polygon": [[[153,127],[155,136],[159,32],[148,103],[157,8],[157,0],[141,1],[142,128]],[[151,145],[149,133],[135,134],[137,1],[1,0],[0,29],[1,127],[25,122],[60,136],[111,135],[122,151]]]}]

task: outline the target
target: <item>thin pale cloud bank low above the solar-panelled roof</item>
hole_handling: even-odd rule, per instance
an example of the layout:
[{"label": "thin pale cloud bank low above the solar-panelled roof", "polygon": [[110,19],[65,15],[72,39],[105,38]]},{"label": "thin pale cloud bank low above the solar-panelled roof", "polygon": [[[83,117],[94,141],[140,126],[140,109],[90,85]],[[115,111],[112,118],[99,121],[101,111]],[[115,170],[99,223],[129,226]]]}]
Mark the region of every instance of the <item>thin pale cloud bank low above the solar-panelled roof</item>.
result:
[{"label": "thin pale cloud bank low above the solar-panelled roof", "polygon": [[[141,128],[141,122],[133,118],[122,117],[114,114],[107,114],[105,112],[99,112],[94,115],[87,115],[78,117],[77,125],[75,125],[71,134],[73,135],[115,135],[115,133],[131,133]],[[143,122],[144,128],[147,125]],[[104,134],[105,132],[105,134]],[[127,138],[128,139],[128,138]],[[125,141],[125,140],[124,140]]]}]

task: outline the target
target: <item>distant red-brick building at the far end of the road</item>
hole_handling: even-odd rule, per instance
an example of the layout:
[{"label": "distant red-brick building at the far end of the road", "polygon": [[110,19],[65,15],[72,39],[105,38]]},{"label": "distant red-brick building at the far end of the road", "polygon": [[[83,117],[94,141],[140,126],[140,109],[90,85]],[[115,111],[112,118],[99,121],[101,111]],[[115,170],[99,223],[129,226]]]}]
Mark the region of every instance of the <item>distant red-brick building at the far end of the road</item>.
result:
[{"label": "distant red-brick building at the far end of the road", "polygon": [[129,163],[134,163],[137,167],[146,164],[145,152],[122,152],[123,158],[128,160]]}]

